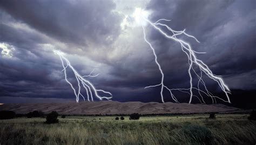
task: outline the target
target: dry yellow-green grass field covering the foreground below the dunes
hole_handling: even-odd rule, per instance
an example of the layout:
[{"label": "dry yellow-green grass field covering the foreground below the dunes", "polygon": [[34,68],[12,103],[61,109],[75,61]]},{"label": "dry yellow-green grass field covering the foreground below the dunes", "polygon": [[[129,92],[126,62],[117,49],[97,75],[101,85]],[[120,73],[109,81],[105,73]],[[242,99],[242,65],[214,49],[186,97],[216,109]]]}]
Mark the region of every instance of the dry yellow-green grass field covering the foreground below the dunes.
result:
[{"label": "dry yellow-green grass field covering the foreground below the dunes", "polygon": [[255,144],[256,122],[243,114],[179,117],[69,116],[47,125],[44,118],[0,121],[0,144]]}]

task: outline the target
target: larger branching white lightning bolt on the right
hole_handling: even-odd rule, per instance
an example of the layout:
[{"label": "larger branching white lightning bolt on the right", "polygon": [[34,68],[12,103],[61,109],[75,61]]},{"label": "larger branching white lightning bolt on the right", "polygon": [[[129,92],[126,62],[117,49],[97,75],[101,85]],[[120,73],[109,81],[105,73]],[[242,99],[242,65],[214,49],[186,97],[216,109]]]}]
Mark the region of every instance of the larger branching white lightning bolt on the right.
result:
[{"label": "larger branching white lightning bolt on the right", "polygon": [[[228,86],[224,83],[223,79],[221,77],[217,76],[217,75],[214,75],[212,73],[212,71],[210,70],[210,68],[208,68],[208,66],[203,61],[197,59],[196,53],[200,54],[201,52],[196,52],[195,50],[192,49],[192,47],[190,46],[190,44],[188,44],[188,42],[185,42],[184,40],[181,40],[181,39],[177,38],[178,35],[182,35],[183,34],[183,35],[185,35],[187,37],[190,37],[190,38],[193,38],[194,40],[199,42],[196,37],[193,37],[192,35],[187,34],[185,32],[185,30],[183,30],[183,31],[175,31],[175,30],[172,30],[172,28],[170,28],[169,26],[160,23],[160,21],[171,21],[171,20],[159,19],[155,23],[152,23],[150,20],[146,19],[142,15],[140,15],[139,17],[140,17],[140,23],[141,23],[142,28],[143,28],[144,40],[147,42],[147,44],[149,44],[150,48],[152,49],[152,52],[153,52],[154,58],[155,58],[154,60],[155,60],[155,62],[157,64],[157,66],[158,66],[158,69],[159,69],[160,73],[161,73],[161,83],[160,84],[146,86],[145,88],[161,86],[160,94],[161,94],[161,100],[162,100],[163,103],[164,103],[164,97],[163,97],[163,90],[164,89],[167,89],[170,92],[172,99],[175,102],[177,102],[177,103],[178,103],[178,100],[177,100],[177,98],[172,93],[172,91],[175,91],[175,90],[188,93],[190,95],[189,103],[191,103],[192,97],[197,97],[199,99],[200,103],[202,103],[202,102],[205,103],[204,98],[203,98],[202,95],[206,95],[207,97],[211,97],[212,103],[214,103],[214,101],[215,101],[215,103],[217,103],[215,98],[223,100],[224,102],[231,103],[230,102],[230,98],[228,97],[228,93],[230,93],[230,89],[228,89]],[[153,46],[146,39],[145,27],[142,24],[142,19],[141,18],[143,18],[147,23],[149,23],[157,31],[159,31],[161,34],[163,34],[167,39],[171,39],[171,40],[174,40],[176,42],[179,42],[179,44],[181,46],[181,50],[187,55],[188,64],[190,65],[189,68],[188,68],[188,75],[190,76],[190,88],[189,89],[169,89],[167,86],[164,85],[164,73],[163,73],[163,70],[161,69],[161,66],[160,66],[160,64],[157,61],[157,55],[156,55],[156,52],[155,52]],[[163,30],[160,29],[159,26],[166,27],[167,30],[169,30],[172,33],[172,35],[169,35],[169,34],[165,33]],[[193,66],[195,66],[195,65],[199,67],[200,75],[198,73],[196,73],[196,71],[194,70]],[[197,88],[194,88],[193,85],[192,85],[192,75],[191,75],[192,72],[194,72],[196,74],[196,76],[198,77],[198,79],[199,79],[198,84],[197,84]],[[225,93],[227,100],[224,100],[224,99],[222,99],[222,98],[220,98],[218,96],[214,96],[214,95],[212,95],[212,93],[210,91],[207,90],[205,82],[204,82],[204,80],[202,78],[203,73],[206,74],[209,78],[213,79],[213,81],[215,81],[215,82],[217,82],[219,84],[221,90]],[[203,91],[203,90],[201,90],[199,88],[200,83],[204,86],[205,91]],[[188,92],[188,90],[189,90],[189,92]],[[192,90],[197,90],[199,95],[200,95],[200,97],[198,97],[196,95],[193,95],[193,91]]]}]

